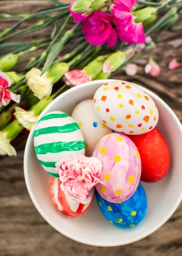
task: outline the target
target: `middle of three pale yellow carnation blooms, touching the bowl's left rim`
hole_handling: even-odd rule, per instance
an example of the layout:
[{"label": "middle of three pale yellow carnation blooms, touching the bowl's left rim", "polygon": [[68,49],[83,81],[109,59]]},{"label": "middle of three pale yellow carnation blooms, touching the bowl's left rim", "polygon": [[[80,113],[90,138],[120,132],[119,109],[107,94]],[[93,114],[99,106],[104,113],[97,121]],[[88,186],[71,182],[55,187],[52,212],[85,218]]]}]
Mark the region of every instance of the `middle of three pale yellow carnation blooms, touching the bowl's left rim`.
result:
[{"label": "middle of three pale yellow carnation blooms, touching the bowl's left rim", "polygon": [[34,111],[26,111],[20,107],[15,107],[14,115],[18,122],[27,130],[31,130],[38,119],[38,117],[34,115]]}]

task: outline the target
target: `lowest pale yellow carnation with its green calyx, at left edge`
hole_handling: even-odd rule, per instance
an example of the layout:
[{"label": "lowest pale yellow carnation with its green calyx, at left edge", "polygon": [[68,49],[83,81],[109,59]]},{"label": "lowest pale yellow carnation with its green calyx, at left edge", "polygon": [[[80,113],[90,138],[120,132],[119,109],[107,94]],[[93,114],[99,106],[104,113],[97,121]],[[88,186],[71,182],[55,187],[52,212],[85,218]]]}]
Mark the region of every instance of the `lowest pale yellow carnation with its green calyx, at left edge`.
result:
[{"label": "lowest pale yellow carnation with its green calyx, at left edge", "polygon": [[0,131],[0,155],[16,156],[16,150],[10,142],[15,139],[22,130],[23,126],[15,119]]}]

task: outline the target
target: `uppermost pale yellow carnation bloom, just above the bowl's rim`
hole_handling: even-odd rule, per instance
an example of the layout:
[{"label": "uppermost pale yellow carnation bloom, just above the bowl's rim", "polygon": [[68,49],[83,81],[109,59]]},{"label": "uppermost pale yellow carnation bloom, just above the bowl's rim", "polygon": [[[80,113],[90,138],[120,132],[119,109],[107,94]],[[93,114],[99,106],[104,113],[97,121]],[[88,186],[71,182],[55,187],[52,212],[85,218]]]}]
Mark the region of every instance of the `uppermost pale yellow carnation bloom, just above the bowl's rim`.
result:
[{"label": "uppermost pale yellow carnation bloom, just above the bowl's rim", "polygon": [[53,89],[53,79],[47,76],[47,72],[40,75],[41,70],[36,67],[31,68],[25,75],[29,88],[38,99],[50,96]]}]

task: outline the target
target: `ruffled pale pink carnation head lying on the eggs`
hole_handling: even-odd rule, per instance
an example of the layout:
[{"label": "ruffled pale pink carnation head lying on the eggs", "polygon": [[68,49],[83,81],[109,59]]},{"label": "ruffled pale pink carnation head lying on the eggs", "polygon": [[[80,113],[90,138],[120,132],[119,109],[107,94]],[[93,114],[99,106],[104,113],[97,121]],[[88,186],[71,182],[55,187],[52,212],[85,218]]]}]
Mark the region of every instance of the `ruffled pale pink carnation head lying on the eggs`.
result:
[{"label": "ruffled pale pink carnation head lying on the eggs", "polygon": [[85,155],[69,156],[56,163],[56,171],[61,180],[61,190],[70,202],[86,204],[90,201],[89,190],[97,183],[101,175],[102,164],[96,157]]}]

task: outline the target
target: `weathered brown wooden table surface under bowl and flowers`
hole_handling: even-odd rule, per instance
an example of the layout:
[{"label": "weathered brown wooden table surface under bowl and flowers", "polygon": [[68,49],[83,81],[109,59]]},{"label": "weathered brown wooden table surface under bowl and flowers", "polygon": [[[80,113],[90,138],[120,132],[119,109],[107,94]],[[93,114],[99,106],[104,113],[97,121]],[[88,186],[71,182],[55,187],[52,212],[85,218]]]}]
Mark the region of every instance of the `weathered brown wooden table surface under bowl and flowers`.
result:
[{"label": "weathered brown wooden table surface under bowl and flowers", "polygon": [[[0,10],[23,13],[49,4],[46,0],[1,0]],[[0,29],[8,25],[1,22]],[[144,72],[149,55],[161,67],[161,74],[155,78]],[[113,78],[131,81],[156,92],[182,121],[182,65],[169,70],[168,64],[173,58],[182,61],[182,33],[166,31],[158,38],[155,49],[136,60],[138,72],[135,76],[127,76],[121,71]],[[13,141],[16,157],[0,156],[0,256],[182,255],[182,203],[160,229],[130,245],[94,247],[59,234],[38,213],[26,189],[23,172],[26,139],[22,133]]]}]

